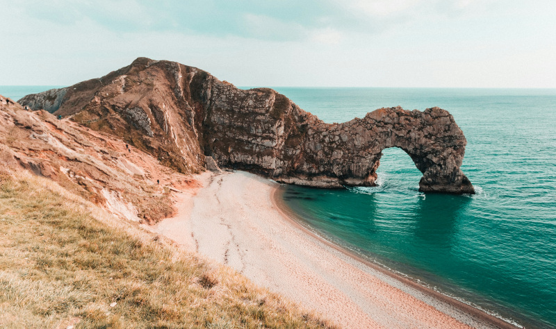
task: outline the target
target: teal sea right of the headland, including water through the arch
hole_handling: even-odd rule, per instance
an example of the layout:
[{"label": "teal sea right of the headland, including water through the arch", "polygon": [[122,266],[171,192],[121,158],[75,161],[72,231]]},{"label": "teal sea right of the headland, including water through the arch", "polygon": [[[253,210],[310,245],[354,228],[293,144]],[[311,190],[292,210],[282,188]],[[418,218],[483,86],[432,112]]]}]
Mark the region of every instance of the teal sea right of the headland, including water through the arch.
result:
[{"label": "teal sea right of the headland, including water through the arch", "polygon": [[420,171],[383,151],[379,186],[288,186],[302,224],[363,258],[527,327],[556,327],[556,90],[275,88],[326,122],[439,106],[467,139],[477,194],[418,192]]}]

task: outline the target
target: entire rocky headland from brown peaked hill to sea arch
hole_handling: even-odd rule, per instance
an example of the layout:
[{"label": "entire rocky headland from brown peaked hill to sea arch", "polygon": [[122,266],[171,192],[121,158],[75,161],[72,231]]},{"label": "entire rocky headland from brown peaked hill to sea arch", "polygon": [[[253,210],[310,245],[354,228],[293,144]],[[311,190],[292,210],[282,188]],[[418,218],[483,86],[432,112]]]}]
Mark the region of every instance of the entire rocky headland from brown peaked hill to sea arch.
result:
[{"label": "entire rocky headland from brown peaked hill to sea arch", "polygon": [[138,58],[103,78],[25,96],[22,105],[113,133],[183,173],[220,165],[314,187],[373,186],[382,150],[400,147],[423,192],[473,193],[466,139],[445,110],[382,108],[325,124],[286,96],[240,90],[206,71]]}]

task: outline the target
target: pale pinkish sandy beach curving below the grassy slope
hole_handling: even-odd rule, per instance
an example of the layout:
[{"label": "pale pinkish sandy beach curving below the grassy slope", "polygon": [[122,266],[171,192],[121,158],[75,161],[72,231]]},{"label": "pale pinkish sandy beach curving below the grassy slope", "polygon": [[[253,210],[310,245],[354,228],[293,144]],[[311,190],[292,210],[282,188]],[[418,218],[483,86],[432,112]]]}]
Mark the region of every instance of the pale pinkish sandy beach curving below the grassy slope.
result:
[{"label": "pale pinkish sandy beach curving below the grassy slope", "polygon": [[340,326],[511,327],[316,237],[277,204],[277,183],[241,171],[195,178],[202,187],[152,229]]}]

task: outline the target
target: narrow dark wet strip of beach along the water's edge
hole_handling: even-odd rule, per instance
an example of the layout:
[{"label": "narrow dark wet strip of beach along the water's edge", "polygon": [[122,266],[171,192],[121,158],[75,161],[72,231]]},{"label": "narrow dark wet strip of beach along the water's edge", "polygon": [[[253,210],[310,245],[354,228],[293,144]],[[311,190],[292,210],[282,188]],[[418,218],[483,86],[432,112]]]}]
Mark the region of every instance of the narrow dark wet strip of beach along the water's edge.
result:
[{"label": "narrow dark wet strip of beach along the water's edge", "polygon": [[337,244],[334,244],[333,242],[330,242],[329,240],[321,237],[320,235],[314,233],[313,231],[309,230],[308,228],[302,226],[302,224],[299,223],[300,216],[297,213],[295,213],[291,208],[289,208],[288,205],[286,205],[284,199],[281,198],[283,193],[284,193],[283,185],[275,187],[275,189],[272,191],[271,194],[272,202],[275,204],[277,210],[283,214],[284,219],[286,221],[289,221],[291,225],[297,227],[298,229],[303,230],[304,233],[306,233],[307,235],[311,235],[313,238],[320,240],[320,242],[322,242],[323,244],[326,244],[327,246],[336,249],[337,251],[343,253],[347,257],[350,257],[357,262],[361,262],[362,264],[365,264],[366,266],[374,269],[375,271],[379,271],[384,275],[391,277],[393,280],[398,280],[402,282],[402,284],[408,285],[413,289],[417,289],[418,291],[423,292],[424,294],[427,294],[432,298],[436,298],[439,301],[448,303],[452,305],[452,307],[455,307],[459,310],[462,310],[463,312],[468,313],[471,317],[477,317],[478,319],[482,319],[483,321],[489,322],[494,326],[496,326],[496,328],[520,328],[514,326],[512,323],[509,323],[508,321],[505,321],[504,319],[500,319],[499,317],[495,317],[491,314],[488,314],[485,311],[478,309],[477,307],[473,307],[472,305],[468,305],[466,303],[458,301],[457,299],[442,294],[441,292],[436,292],[434,289],[430,289],[428,287],[420,285],[418,282],[415,282],[410,278],[402,276],[393,271],[389,271],[388,269],[381,267],[379,264],[375,264],[374,262],[370,262],[364,258],[361,258],[359,255],[352,253],[351,251],[346,250],[345,248],[342,248],[341,246],[338,246]]}]

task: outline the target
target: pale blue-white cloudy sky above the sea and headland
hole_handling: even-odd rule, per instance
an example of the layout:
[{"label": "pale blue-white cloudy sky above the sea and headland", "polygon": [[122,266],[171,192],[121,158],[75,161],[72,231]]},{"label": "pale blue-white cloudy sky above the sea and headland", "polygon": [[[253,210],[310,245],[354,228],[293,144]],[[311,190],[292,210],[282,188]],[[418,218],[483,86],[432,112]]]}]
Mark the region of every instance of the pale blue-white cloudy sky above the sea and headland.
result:
[{"label": "pale blue-white cloudy sky above the sea and headland", "polygon": [[237,86],[556,87],[554,0],[0,0],[0,85],[135,58]]}]

